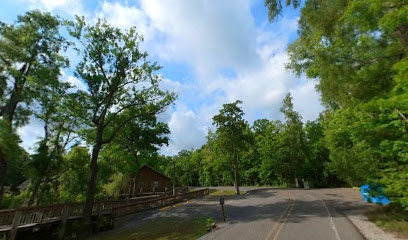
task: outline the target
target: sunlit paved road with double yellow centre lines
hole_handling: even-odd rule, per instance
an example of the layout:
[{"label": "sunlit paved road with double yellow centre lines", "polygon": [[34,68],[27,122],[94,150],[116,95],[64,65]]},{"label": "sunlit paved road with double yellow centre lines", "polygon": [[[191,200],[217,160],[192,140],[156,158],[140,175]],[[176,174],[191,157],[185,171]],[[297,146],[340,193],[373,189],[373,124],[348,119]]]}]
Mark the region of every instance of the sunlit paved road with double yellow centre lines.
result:
[{"label": "sunlit paved road with double yellow centre lines", "polygon": [[[359,202],[353,194],[343,196],[344,191],[352,190],[270,189],[231,197],[225,205],[227,223],[200,239],[364,239],[339,212]],[[209,198],[195,204],[215,207],[217,201]]]}]

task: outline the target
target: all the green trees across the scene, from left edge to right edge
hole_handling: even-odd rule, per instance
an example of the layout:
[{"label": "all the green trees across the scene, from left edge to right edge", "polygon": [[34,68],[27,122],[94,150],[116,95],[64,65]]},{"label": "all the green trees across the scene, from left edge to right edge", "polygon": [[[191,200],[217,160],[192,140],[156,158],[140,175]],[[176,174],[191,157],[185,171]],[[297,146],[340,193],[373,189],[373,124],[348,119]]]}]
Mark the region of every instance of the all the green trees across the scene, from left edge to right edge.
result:
[{"label": "all the green trees across the scene, from left edge to right edge", "polygon": [[[176,156],[160,155],[170,131],[157,118],[177,96],[162,87],[135,28],[39,11],[1,23],[0,206],[85,201],[89,210],[147,164],[178,185],[377,182],[407,208],[408,1],[286,2],[301,7],[287,67],[316,79],[324,112],[304,124],[288,94],[284,121],[250,125],[241,101],[226,103],[207,142]],[[271,21],[284,9],[265,3]],[[29,121],[43,132],[32,153],[17,132]]]}]

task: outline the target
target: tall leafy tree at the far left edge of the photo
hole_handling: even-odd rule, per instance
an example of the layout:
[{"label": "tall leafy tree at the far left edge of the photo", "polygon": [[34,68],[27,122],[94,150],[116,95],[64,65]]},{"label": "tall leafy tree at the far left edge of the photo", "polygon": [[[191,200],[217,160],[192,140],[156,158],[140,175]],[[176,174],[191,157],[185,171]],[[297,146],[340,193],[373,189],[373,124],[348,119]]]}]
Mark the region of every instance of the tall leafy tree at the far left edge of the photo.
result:
[{"label": "tall leafy tree at the far left edge of the photo", "polygon": [[[68,45],[59,26],[57,18],[39,11],[19,16],[15,25],[0,23],[0,117],[13,127],[27,123],[33,100],[44,86],[57,83],[68,65],[59,55]],[[0,202],[9,161],[5,148],[0,145]]]}]

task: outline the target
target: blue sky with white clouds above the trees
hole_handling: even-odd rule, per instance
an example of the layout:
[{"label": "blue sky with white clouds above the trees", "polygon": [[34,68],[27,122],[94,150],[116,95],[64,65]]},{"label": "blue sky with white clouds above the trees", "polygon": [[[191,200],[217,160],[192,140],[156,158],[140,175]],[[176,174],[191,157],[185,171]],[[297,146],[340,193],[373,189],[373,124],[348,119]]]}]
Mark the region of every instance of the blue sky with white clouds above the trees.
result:
[{"label": "blue sky with white clouds above the trees", "polygon": [[[95,22],[136,26],[144,36],[143,50],[163,68],[162,87],[178,94],[173,107],[159,119],[169,125],[174,155],[206,142],[212,117],[222,104],[243,101],[245,119],[283,120],[282,100],[290,92],[303,121],[315,120],[323,110],[316,82],[285,69],[286,49],[297,37],[299,10],[287,8],[269,22],[263,0],[2,0],[0,21],[13,23],[17,15],[40,9],[66,19],[85,16]],[[75,59],[75,56],[73,56]],[[63,81],[86,86],[64,69]],[[31,119],[20,129],[22,145],[30,151],[43,135],[42,123]]]}]

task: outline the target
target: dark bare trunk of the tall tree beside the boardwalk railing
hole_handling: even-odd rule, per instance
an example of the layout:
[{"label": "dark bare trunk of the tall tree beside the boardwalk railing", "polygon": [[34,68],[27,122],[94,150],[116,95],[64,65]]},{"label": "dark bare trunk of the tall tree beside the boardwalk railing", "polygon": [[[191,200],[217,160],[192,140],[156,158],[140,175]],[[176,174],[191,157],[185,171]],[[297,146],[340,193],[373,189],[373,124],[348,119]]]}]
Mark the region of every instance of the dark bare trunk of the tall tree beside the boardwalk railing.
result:
[{"label": "dark bare trunk of the tall tree beside the boardwalk railing", "polygon": [[98,173],[98,156],[99,151],[101,150],[101,146],[101,141],[97,141],[97,143],[94,145],[94,148],[92,150],[91,164],[89,165],[89,176],[87,183],[88,192],[86,194],[86,200],[83,210],[83,226],[81,232],[81,237],[83,239],[89,237],[89,235],[91,234],[92,208],[95,195],[96,175]]}]

